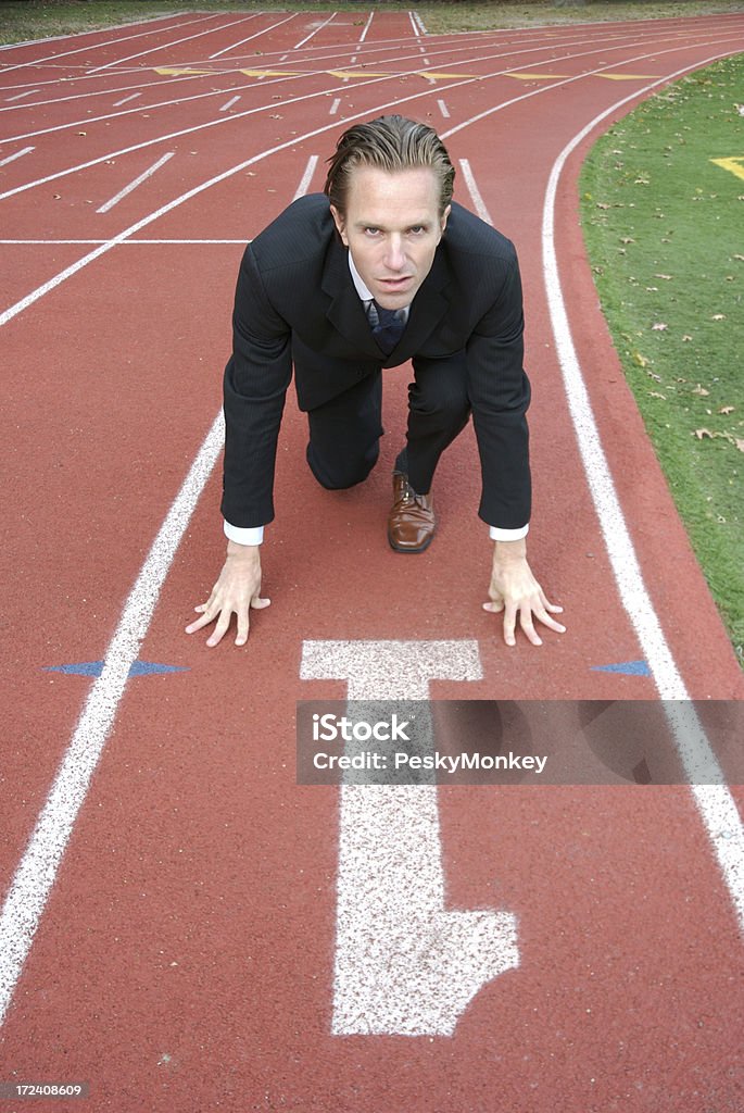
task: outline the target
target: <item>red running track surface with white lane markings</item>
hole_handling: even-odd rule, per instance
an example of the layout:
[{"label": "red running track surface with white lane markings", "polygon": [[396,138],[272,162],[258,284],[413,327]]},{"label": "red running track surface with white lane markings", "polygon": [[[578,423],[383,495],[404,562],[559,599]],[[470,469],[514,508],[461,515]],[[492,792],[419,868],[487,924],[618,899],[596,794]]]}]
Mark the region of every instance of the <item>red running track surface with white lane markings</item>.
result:
[{"label": "red running track surface with white lane markings", "polygon": [[[429,37],[360,11],[0,51],[0,1081],[87,1081],[116,1111],[741,1111],[741,789],[355,795],[297,786],[294,732],[297,700],[347,695],[741,699],[598,314],[576,175],[638,98],[743,48],[744,16]],[[387,548],[400,368],[351,492],[310,482],[289,405],[272,605],[245,650],[208,651],[182,628],[221,560],[242,247],[321,187],[347,121],[394,106],[519,250],[530,559],[568,632],[509,651],[480,609],[469,434],[436,545]],[[183,671],[128,680],[137,660]]]}]

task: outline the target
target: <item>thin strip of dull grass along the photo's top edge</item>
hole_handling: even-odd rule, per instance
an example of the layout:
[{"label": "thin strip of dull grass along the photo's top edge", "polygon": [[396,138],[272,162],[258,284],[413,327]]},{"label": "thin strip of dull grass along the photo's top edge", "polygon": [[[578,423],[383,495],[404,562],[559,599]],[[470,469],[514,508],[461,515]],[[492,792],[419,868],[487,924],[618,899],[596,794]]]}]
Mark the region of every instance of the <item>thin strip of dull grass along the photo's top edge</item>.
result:
[{"label": "thin strip of dull grass along the photo's top edge", "polygon": [[419,13],[431,35],[484,31],[502,27],[537,27],[596,20],[658,19],[743,11],[744,0],[605,0],[604,3],[535,0],[534,3],[411,3],[377,0],[0,0],[0,42],[127,23],[182,11],[353,11],[364,22],[370,10]]}]

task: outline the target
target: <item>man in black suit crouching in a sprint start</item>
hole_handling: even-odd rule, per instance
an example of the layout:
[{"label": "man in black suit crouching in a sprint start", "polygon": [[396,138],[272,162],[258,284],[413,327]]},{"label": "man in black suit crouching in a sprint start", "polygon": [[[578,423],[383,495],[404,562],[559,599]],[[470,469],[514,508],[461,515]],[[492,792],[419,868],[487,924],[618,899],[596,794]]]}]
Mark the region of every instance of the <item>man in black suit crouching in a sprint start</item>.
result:
[{"label": "man in black suit crouching in a sprint start", "polygon": [[289,206],[247,248],[225,372],[222,514],[227,559],[194,633],[237,617],[248,637],[260,595],[259,546],[274,519],[277,436],[292,364],[308,414],[307,462],[328,489],[367,477],[379,451],[383,368],[411,359],[406,445],[393,475],[388,541],[423,552],[436,531],[431,481],[473,414],[483,473],[479,515],[495,542],[489,599],[504,637],[540,644],[562,610],[526,558],[530,484],[522,288],[512,244],[452,201],[455,170],[438,136],[399,116],[349,128],[325,196]]}]

